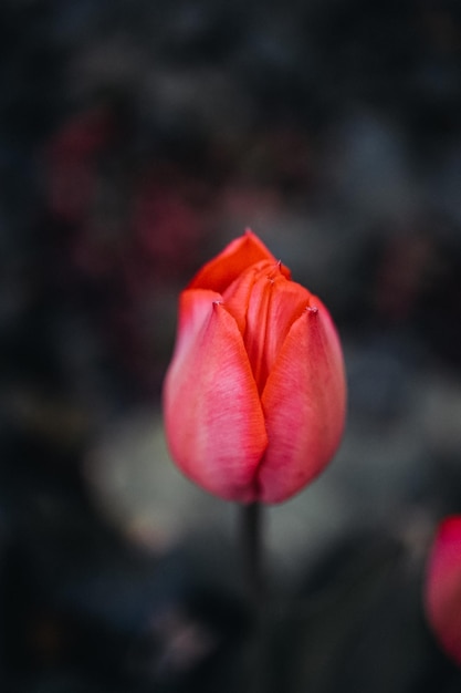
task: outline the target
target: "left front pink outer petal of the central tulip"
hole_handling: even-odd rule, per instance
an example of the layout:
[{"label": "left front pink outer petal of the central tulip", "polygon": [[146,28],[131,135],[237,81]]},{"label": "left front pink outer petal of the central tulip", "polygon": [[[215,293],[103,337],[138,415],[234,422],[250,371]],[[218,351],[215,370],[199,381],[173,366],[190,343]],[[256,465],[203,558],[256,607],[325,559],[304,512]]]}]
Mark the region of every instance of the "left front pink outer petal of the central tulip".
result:
[{"label": "left front pink outer petal of the central tulip", "polygon": [[197,484],[228,500],[255,499],[254,474],[268,436],[233,317],[211,291],[181,297],[178,348],[165,381],[174,459]]}]

